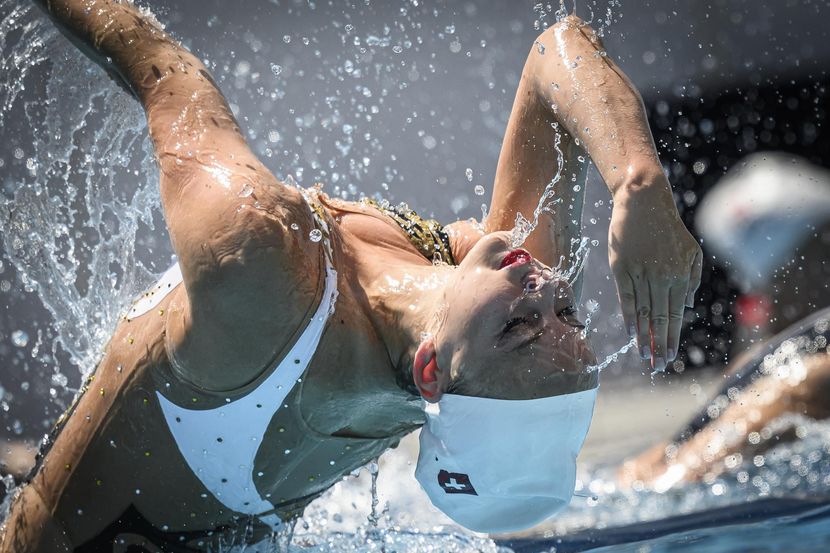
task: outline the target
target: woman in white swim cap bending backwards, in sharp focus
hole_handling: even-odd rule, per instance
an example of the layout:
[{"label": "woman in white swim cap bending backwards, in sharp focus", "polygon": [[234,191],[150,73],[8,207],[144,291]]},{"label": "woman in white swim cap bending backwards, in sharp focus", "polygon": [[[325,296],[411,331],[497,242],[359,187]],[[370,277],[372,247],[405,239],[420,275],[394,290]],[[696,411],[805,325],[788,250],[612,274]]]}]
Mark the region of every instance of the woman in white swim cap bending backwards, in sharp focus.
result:
[{"label": "woman in white swim cap bending backwards, in sharp focus", "polygon": [[0,551],[256,542],[421,426],[416,477],[460,524],[516,530],[567,505],[598,384],[579,279],[557,276],[584,187],[559,187],[525,249],[517,214],[559,163],[567,182],[591,157],[613,194],[625,325],[657,370],[701,264],[642,100],[588,26],[539,36],[548,54],[530,49],[490,214],[441,226],[280,182],[205,66],[134,5],[38,3],[144,107],[178,265],[115,329]]}]

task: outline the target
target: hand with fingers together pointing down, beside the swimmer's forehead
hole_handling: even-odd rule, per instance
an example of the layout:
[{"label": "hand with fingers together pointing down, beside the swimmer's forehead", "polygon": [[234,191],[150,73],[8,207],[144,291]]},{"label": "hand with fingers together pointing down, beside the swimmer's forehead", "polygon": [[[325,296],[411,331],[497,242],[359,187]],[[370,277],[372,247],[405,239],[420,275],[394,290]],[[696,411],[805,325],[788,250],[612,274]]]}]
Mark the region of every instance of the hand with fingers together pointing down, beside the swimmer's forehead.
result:
[{"label": "hand with fingers together pointing down, beside the swimmer's forehead", "polygon": [[694,305],[703,253],[664,178],[614,195],[608,259],[629,335],[652,369],[665,370],[677,356],[684,308]]}]

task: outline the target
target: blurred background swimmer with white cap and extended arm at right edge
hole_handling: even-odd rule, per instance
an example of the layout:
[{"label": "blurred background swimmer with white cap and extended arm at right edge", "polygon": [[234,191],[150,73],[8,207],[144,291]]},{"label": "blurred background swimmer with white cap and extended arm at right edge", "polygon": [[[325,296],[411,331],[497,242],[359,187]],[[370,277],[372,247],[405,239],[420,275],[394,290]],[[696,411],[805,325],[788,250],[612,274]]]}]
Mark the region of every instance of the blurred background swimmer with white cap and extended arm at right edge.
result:
[{"label": "blurred background swimmer with white cap and extended arm at right edge", "polygon": [[625,482],[658,491],[796,439],[794,428],[765,431],[784,415],[830,417],[830,173],[788,154],[748,156],[704,198],[697,227],[744,292],[748,349],[701,413],[623,467]]}]

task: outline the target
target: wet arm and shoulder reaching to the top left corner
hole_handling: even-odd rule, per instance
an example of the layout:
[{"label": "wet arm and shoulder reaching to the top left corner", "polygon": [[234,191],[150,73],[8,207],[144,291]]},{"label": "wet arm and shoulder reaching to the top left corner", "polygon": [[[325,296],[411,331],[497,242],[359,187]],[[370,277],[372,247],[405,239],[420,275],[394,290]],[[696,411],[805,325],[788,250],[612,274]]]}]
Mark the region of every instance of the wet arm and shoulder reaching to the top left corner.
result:
[{"label": "wet arm and shoulder reaching to the top left corner", "polygon": [[321,245],[307,239],[310,210],[248,148],[207,68],[149,13],[126,1],[37,3],[146,111],[187,290],[188,305],[169,314],[168,328],[183,329],[178,368],[209,389],[247,383],[314,301]]}]

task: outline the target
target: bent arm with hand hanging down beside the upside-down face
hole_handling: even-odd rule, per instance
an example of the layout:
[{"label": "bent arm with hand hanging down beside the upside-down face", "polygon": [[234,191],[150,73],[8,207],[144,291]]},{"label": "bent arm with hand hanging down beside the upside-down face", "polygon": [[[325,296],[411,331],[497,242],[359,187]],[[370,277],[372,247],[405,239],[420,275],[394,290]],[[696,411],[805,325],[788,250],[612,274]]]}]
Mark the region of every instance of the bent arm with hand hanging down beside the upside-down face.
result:
[{"label": "bent arm with hand hanging down beside the upside-down face", "polygon": [[640,95],[596,33],[574,16],[531,48],[499,157],[488,231],[512,228],[517,212],[533,214],[557,171],[557,133],[564,154],[557,203],[540,217],[527,247],[554,265],[560,258],[565,267],[572,262],[584,150],[613,196],[609,260],[626,328],[638,336],[642,356],[662,370],[677,354],[684,305],[692,305],[700,282],[701,252],[680,221]]}]

